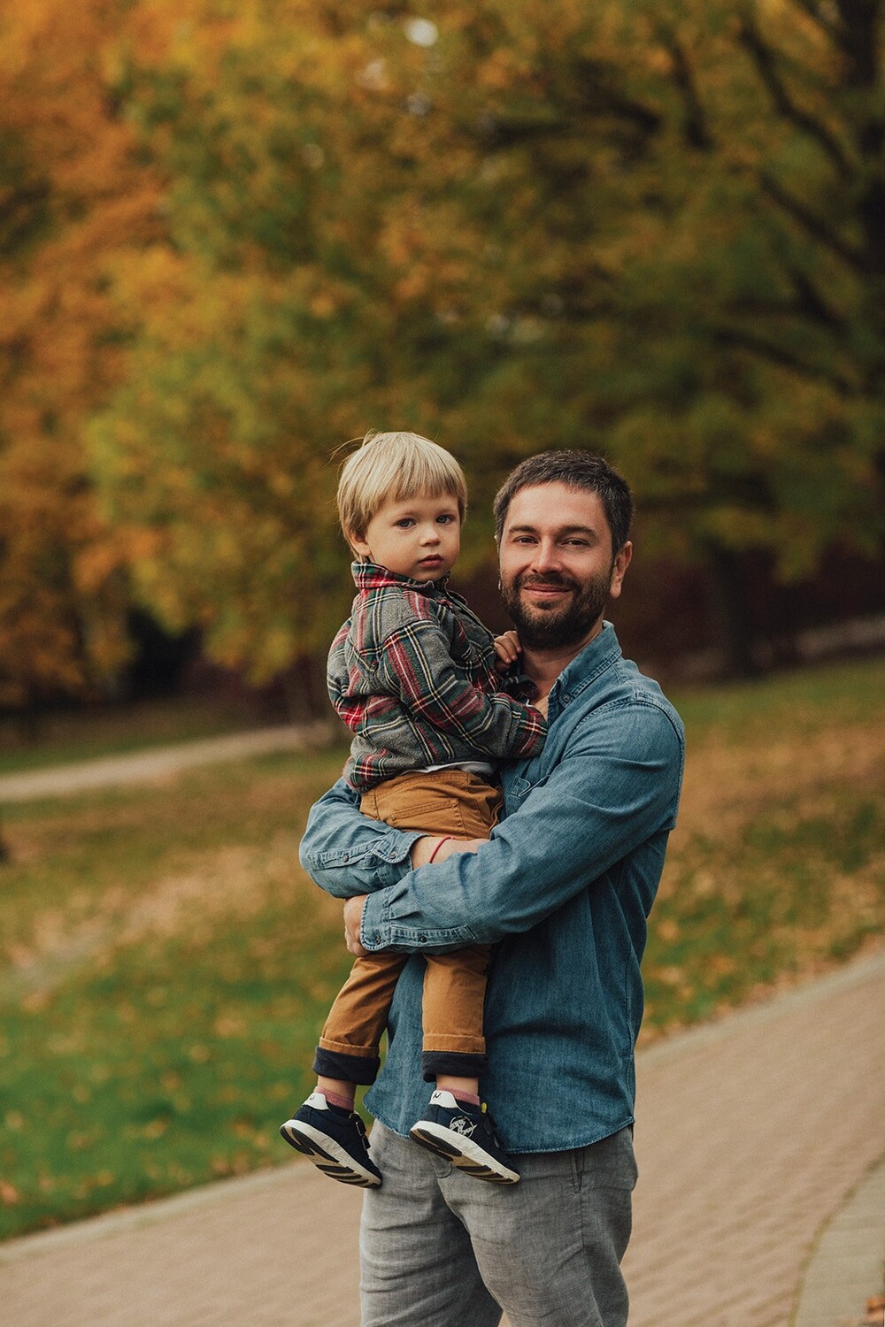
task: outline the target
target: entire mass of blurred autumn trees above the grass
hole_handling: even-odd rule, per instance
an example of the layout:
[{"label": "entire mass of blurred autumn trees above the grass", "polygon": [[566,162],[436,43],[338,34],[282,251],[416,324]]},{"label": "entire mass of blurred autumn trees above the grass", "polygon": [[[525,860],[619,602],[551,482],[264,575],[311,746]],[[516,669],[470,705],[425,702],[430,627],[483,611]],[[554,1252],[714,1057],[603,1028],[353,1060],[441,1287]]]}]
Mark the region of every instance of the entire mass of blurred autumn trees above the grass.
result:
[{"label": "entire mass of blurred autumn trees above the grass", "polygon": [[488,616],[496,486],[585,447],[628,654],[881,645],[880,11],[4,3],[4,711],[220,667],[325,713],[369,427],[463,462]]}]

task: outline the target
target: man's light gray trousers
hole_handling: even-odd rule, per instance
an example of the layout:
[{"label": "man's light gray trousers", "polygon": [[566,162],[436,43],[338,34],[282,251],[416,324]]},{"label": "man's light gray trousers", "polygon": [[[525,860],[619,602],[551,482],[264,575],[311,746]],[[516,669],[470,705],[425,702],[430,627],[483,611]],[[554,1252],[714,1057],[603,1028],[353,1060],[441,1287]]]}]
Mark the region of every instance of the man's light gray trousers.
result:
[{"label": "man's light gray trousers", "polygon": [[516,1157],[484,1184],[377,1124],[383,1174],[364,1194],[362,1327],[625,1327],[630,1129],[573,1152]]}]

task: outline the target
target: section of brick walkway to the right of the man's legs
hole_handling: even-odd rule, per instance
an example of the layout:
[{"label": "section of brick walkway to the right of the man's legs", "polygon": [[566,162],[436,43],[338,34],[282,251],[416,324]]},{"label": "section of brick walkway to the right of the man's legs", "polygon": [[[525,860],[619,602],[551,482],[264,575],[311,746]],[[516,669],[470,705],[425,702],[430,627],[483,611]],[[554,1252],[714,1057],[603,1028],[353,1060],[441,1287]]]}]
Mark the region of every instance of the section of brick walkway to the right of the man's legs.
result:
[{"label": "section of brick walkway to the right of the man's legs", "polygon": [[630,1327],[787,1327],[885,1153],[884,958],[640,1056]]}]

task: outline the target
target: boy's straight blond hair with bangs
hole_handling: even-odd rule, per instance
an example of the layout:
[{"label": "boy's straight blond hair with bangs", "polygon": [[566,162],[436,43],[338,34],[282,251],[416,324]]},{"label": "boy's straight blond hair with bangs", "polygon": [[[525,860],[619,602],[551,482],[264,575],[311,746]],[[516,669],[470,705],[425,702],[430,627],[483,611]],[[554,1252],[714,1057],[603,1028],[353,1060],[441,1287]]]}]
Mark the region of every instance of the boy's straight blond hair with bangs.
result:
[{"label": "boy's straight blond hair with bangs", "polygon": [[368,433],[338,479],[344,537],[349,544],[354,536],[365,539],[369,522],[385,503],[418,496],[451,496],[464,519],[467,484],[455,458],[418,433]]}]

